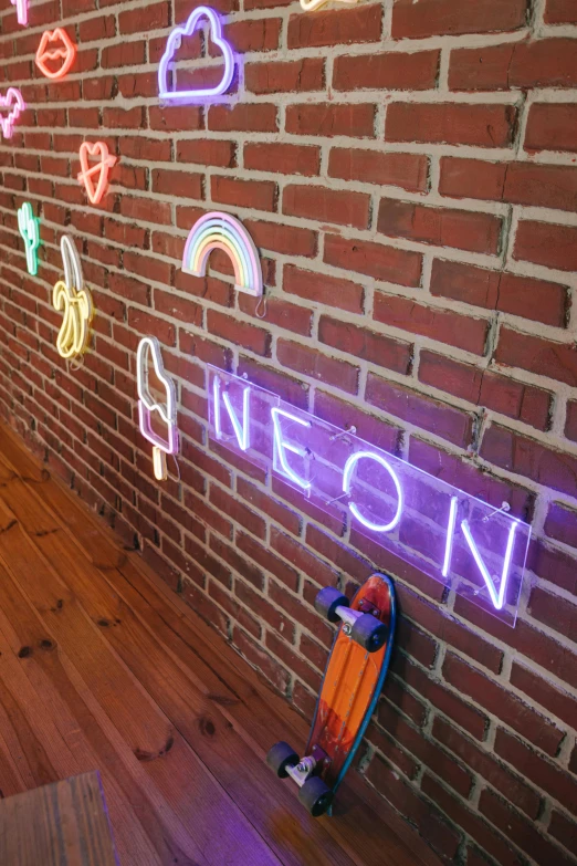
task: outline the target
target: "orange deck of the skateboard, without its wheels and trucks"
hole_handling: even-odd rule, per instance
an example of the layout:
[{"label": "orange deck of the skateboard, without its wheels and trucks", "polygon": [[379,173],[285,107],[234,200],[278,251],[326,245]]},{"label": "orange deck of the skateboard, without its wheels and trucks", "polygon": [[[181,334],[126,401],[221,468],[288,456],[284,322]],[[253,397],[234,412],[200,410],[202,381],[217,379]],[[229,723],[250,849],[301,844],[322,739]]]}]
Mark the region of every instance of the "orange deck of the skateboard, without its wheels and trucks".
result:
[{"label": "orange deck of the skateboard, without its wheels and trucks", "polygon": [[395,636],[395,587],[374,574],[358,589],[350,609],[373,614],[388,626],[385,645],[368,653],[340,624],[328,657],[305,754],[326,754],[318,774],[336,791],[347,772],[375,710],[389,667]]}]

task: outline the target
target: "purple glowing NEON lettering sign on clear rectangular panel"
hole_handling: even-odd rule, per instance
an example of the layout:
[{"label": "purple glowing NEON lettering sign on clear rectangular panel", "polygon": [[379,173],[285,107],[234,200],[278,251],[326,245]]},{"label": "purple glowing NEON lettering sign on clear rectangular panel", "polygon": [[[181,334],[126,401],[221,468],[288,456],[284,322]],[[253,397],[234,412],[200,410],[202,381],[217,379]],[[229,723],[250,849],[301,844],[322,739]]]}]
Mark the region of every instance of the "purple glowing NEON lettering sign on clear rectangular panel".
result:
[{"label": "purple glowing NEON lettering sign on clear rectangular panel", "polygon": [[340,519],[344,535],[367,535],[515,625],[527,523],[210,366],[208,398],[211,436],[220,445]]}]

